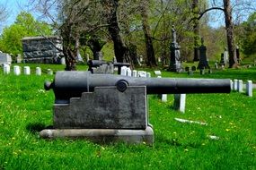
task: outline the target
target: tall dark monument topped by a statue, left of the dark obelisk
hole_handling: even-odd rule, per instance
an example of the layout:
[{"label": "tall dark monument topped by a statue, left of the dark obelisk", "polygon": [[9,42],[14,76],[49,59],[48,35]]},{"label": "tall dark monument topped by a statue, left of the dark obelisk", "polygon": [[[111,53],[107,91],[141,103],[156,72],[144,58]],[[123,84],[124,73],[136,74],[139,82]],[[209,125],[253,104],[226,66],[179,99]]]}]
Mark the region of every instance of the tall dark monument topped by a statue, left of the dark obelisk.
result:
[{"label": "tall dark monument topped by a statue, left of the dark obelisk", "polygon": [[170,72],[181,72],[181,53],[180,53],[180,46],[177,43],[177,36],[176,36],[176,30],[174,26],[172,25],[172,43],[170,46],[171,50],[171,61],[169,65],[168,71]]}]

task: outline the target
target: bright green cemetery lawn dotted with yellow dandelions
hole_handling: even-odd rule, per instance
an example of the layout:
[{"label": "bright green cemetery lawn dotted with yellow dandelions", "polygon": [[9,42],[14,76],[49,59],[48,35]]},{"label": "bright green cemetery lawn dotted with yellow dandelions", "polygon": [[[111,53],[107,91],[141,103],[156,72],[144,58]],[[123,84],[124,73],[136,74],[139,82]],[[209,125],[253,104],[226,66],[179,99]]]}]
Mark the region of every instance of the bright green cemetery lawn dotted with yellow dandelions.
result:
[{"label": "bright green cemetery lawn dotted with yellow dandelions", "polygon": [[[59,65],[43,67],[48,66],[63,70]],[[35,65],[31,64],[35,70],[32,68]],[[188,77],[170,72],[163,72],[163,76]],[[256,68],[194,73],[193,77],[256,83]],[[81,139],[40,139],[39,132],[52,125],[54,94],[45,91],[43,83],[53,78],[33,72],[30,76],[4,75],[1,68],[0,169],[256,169],[255,89],[252,98],[238,92],[187,95],[185,114],[172,110],[172,95],[167,103],[149,96],[154,146],[99,144]],[[174,118],[207,125],[179,123]]]}]

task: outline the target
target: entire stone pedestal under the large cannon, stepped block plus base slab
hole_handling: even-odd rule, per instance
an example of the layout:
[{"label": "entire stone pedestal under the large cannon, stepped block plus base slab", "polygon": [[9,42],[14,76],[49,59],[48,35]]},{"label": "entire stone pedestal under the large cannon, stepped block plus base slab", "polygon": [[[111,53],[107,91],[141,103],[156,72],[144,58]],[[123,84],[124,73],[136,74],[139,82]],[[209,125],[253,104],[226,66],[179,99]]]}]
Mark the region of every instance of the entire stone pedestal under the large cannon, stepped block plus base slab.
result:
[{"label": "entire stone pedestal under the large cannon, stepped block plus base slab", "polygon": [[54,129],[43,130],[43,138],[121,140],[152,145],[154,132],[148,123],[146,87],[97,87],[70,98],[69,104],[54,105]]}]

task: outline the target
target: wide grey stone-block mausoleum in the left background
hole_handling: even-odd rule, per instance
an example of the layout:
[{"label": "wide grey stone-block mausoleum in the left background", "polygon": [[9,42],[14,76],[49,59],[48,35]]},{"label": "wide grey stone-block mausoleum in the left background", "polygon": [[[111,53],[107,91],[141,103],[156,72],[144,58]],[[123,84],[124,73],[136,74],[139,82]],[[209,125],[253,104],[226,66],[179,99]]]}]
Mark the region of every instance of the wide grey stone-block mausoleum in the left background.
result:
[{"label": "wide grey stone-block mausoleum in the left background", "polygon": [[62,40],[57,36],[52,37],[27,37],[22,38],[24,63],[61,64]]}]

